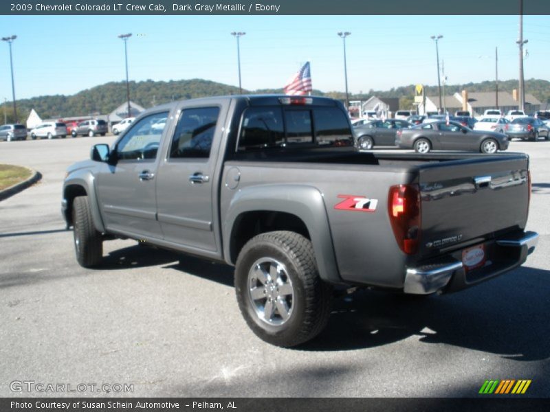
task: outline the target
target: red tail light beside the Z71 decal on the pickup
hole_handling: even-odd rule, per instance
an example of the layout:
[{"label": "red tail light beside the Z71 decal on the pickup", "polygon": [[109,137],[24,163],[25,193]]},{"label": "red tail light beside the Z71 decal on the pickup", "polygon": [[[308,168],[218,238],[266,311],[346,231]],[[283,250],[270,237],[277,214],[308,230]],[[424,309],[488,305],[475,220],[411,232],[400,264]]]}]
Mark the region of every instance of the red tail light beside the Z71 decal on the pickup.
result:
[{"label": "red tail light beside the Z71 decal on the pickup", "polygon": [[399,249],[416,253],[420,242],[420,192],[418,185],[395,185],[388,195],[388,214]]}]

